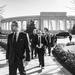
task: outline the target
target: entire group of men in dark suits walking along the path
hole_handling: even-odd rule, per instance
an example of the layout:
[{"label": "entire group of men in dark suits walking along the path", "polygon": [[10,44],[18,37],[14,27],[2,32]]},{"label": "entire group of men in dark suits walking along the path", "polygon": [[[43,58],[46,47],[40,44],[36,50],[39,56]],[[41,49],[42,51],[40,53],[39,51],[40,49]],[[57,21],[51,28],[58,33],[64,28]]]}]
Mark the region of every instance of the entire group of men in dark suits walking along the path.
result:
[{"label": "entire group of men in dark suits walking along the path", "polygon": [[[8,35],[6,59],[9,64],[9,75],[17,75],[17,68],[20,75],[26,75],[24,63],[30,61],[30,58],[38,56],[39,67],[44,69],[44,54],[48,48],[48,54],[51,55],[52,36],[48,33],[48,29],[44,28],[45,33],[41,30],[33,30],[28,37],[25,32],[19,31],[18,23],[12,22],[12,33]],[[30,44],[31,43],[31,44]],[[35,52],[35,53],[34,53]],[[31,55],[30,55],[31,54]]]}]

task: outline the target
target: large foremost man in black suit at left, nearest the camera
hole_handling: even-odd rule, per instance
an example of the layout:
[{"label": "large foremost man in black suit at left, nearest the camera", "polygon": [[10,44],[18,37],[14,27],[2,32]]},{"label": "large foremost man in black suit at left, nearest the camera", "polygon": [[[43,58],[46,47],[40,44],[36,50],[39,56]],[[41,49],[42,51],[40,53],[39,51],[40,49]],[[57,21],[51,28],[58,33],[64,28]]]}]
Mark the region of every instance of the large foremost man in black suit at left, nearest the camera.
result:
[{"label": "large foremost man in black suit at left, nearest the camera", "polygon": [[17,68],[20,75],[26,75],[23,62],[30,61],[29,45],[27,34],[19,32],[18,23],[12,22],[13,33],[8,35],[6,59],[9,63],[9,75],[17,75]]}]

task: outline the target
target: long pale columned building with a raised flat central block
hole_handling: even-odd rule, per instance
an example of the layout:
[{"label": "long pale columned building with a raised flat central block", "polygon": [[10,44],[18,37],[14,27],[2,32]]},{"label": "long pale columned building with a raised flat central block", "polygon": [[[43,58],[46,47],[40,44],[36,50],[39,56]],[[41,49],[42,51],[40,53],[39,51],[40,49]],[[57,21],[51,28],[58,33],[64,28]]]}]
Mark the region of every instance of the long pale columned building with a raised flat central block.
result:
[{"label": "long pale columned building with a raised flat central block", "polygon": [[67,16],[66,12],[41,12],[37,16],[4,18],[1,20],[1,30],[3,33],[10,33],[12,21],[17,21],[19,28],[25,30],[30,20],[34,21],[37,29],[43,30],[46,27],[50,31],[67,31],[68,29],[72,29],[75,23],[75,16]]}]

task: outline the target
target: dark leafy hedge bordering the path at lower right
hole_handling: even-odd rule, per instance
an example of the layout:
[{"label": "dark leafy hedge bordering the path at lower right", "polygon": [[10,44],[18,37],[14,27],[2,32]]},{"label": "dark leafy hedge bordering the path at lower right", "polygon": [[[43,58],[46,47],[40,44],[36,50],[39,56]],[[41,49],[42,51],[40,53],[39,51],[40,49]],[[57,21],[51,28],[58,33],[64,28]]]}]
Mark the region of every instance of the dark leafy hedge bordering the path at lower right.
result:
[{"label": "dark leafy hedge bordering the path at lower right", "polygon": [[55,46],[52,53],[67,70],[75,75],[75,54],[65,52],[60,44]]}]

